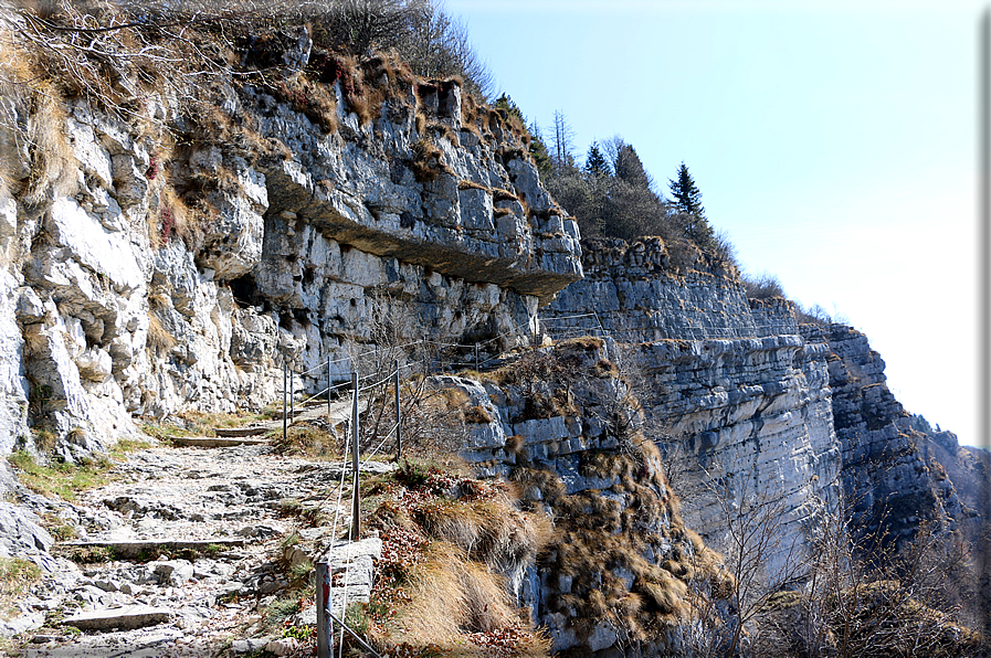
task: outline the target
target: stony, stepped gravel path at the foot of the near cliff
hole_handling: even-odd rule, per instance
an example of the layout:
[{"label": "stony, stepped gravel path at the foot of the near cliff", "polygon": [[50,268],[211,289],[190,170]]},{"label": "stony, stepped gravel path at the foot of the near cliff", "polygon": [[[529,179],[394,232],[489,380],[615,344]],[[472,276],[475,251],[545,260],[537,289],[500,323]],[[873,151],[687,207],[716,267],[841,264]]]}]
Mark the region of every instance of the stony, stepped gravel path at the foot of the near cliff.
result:
[{"label": "stony, stepped gravel path at the foot of the near cliff", "polygon": [[[48,618],[25,655],[220,656],[262,648],[273,639],[260,637],[262,613],[286,593],[288,569],[330,543],[340,476],[340,464],[283,458],[265,445],[155,447],[129,455],[114,467],[112,484],[76,505],[48,501],[48,511],[77,527],[75,543],[56,545],[56,554],[106,555],[99,545],[114,542],[152,549],[140,559],[78,566],[57,560],[55,573],[21,602],[35,620]],[[345,488],[338,534],[348,521]],[[35,509],[45,505],[33,498]],[[301,543],[286,546],[291,535]],[[169,550],[196,541],[203,546],[196,554]],[[74,617],[82,633],[57,624]],[[297,622],[314,617],[310,607]]]}]

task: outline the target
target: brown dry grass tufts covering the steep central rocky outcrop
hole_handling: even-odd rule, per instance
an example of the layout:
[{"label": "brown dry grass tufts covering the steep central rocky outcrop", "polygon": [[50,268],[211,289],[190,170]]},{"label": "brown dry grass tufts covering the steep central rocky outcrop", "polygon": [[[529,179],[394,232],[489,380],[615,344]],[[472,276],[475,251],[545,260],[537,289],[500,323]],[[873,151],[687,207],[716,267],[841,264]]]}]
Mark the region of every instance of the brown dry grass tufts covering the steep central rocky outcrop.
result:
[{"label": "brown dry grass tufts covering the steep central rocky outcrop", "polygon": [[[545,572],[567,576],[571,585],[568,592],[548,593],[549,611],[569,615],[574,609],[576,618],[607,619],[625,637],[644,639],[692,615],[694,579],[708,579],[717,591],[728,591],[720,586],[727,576],[719,556],[684,529],[673,509],[652,443],[635,445],[632,454],[587,453],[580,471],[614,482],[612,496],[595,490],[568,495],[550,471],[517,469],[515,474],[524,497],[533,499],[531,488],[539,488],[556,519],[555,538],[538,561]],[[664,545],[671,546],[666,553]],[[666,555],[663,567],[644,556],[651,553]],[[625,580],[631,576],[632,584]],[[591,628],[573,630],[581,635]]]}]

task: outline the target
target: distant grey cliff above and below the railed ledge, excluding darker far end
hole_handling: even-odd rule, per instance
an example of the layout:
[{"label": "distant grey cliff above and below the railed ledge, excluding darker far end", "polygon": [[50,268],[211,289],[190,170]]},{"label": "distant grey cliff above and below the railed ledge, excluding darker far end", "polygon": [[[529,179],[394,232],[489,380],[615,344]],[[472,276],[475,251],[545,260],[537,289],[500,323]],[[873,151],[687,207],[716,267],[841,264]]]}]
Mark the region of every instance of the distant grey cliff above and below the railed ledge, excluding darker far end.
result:
[{"label": "distant grey cliff above and below the railed ledge, excluding darker far end", "polygon": [[583,244],[586,278],[541,318],[554,335],[591,314],[578,319],[588,330],[642,343],[628,370],[688,526],[718,545],[718,498],[765,498],[783,513],[782,546],[809,549],[803,528],[840,496],[829,346],[799,335],[788,301],[748,300],[731,268],[699,253],[672,255],[658,238]]}]

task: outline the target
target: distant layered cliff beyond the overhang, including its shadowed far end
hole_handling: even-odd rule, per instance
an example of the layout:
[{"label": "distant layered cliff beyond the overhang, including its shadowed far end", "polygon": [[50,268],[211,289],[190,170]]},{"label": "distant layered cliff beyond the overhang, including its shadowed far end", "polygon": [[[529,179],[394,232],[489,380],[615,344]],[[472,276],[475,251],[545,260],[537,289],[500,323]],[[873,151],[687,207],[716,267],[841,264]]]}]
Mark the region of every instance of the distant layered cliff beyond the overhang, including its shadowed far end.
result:
[{"label": "distant layered cliff beyond the overhang, including its shadowed far end", "polygon": [[777,500],[800,543],[841,491],[854,528],[881,524],[900,543],[923,521],[953,529],[967,517],[864,335],[800,326],[787,300],[747,299],[731,266],[672,246],[583,241],[584,278],[541,319],[551,336],[634,343],[628,370],[645,431],[668,455],[689,527],[718,545],[726,519],[714,488]]}]

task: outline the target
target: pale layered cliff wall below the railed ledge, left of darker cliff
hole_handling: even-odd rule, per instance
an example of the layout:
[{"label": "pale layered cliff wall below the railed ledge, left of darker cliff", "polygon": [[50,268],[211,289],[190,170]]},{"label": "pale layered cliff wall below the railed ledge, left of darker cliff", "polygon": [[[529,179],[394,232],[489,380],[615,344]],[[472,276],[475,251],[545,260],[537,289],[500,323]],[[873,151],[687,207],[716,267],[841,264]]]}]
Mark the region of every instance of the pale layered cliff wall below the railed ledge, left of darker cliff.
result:
[{"label": "pale layered cliff wall below the railed ledge, left of darker cliff", "polygon": [[781,510],[782,546],[811,548],[809,523],[840,494],[825,346],[777,336],[660,341],[640,352],[641,404],[689,527],[725,545],[730,519],[717,498],[762,499]]}]

